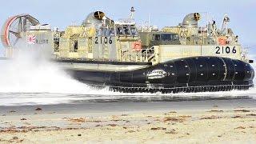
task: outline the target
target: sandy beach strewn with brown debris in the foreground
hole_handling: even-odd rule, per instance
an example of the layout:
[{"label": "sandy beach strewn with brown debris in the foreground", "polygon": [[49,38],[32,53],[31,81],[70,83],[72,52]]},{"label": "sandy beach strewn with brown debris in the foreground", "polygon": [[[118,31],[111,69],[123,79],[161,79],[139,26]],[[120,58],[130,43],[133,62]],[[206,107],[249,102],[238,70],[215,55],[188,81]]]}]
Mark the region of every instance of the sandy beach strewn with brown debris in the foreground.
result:
[{"label": "sandy beach strewn with brown debris in the foreground", "polygon": [[254,99],[0,106],[0,143],[253,143]]}]

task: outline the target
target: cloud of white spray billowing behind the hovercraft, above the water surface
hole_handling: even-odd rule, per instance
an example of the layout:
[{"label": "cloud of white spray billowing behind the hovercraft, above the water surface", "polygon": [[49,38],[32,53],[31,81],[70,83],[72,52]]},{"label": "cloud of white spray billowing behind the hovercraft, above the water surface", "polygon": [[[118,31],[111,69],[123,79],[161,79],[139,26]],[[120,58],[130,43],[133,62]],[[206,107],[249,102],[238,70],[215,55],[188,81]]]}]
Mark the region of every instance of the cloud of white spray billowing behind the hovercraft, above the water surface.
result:
[{"label": "cloud of white spray billowing behind the hovercraft, above the water surface", "polygon": [[71,78],[50,62],[49,45],[19,41],[14,57],[0,62],[0,92],[88,93],[85,84]]}]

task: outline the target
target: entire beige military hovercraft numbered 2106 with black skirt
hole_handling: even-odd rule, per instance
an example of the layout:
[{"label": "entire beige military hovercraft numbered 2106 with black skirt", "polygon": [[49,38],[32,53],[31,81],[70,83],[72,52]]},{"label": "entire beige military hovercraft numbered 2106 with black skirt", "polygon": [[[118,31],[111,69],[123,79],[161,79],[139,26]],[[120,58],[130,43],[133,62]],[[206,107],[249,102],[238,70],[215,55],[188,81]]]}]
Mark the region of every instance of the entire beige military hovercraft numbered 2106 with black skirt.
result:
[{"label": "entire beige military hovercraft numbered 2106 with black skirt", "polygon": [[[8,18],[1,39],[13,57],[23,39],[28,46],[48,45],[52,60],[87,85],[126,93],[248,90],[254,86],[253,61],[246,57],[225,15],[198,26],[201,15],[187,14],[178,26],[137,26],[129,18],[114,21],[102,11],[81,25],[51,29],[29,14]],[[17,25],[18,23],[18,25]]]}]

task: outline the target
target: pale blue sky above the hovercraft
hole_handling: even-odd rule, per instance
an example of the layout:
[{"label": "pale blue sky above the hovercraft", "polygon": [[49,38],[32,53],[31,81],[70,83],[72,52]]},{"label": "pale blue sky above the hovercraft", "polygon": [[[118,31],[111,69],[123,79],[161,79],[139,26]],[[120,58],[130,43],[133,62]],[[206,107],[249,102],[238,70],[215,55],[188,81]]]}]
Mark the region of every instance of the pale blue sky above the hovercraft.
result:
[{"label": "pale blue sky above the hovercraft", "polygon": [[[106,16],[118,20],[127,18],[134,6],[135,21],[159,27],[177,26],[186,14],[199,12],[221,25],[223,15],[230,17],[230,27],[239,35],[242,46],[256,47],[256,1],[255,0],[0,0],[0,26],[6,18],[15,14],[30,14],[41,23],[65,30],[70,24],[80,25],[87,14],[101,10]],[[0,45],[0,51],[3,46]],[[252,48],[251,48],[252,49]],[[256,52],[256,50],[255,50]],[[0,52],[1,54],[1,52]]]}]

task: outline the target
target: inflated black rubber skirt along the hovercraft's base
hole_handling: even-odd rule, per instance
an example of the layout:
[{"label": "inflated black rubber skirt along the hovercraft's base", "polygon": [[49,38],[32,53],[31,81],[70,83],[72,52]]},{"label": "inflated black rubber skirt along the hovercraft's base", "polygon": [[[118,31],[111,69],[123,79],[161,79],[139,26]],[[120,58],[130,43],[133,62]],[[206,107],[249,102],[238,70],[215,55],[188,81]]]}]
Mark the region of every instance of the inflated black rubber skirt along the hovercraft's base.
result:
[{"label": "inflated black rubber skirt along the hovercraft's base", "polygon": [[132,92],[202,92],[247,90],[254,86],[249,63],[220,57],[179,58],[129,71],[68,70],[90,86]]}]

